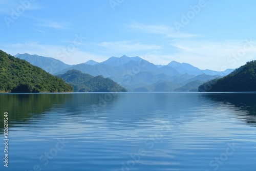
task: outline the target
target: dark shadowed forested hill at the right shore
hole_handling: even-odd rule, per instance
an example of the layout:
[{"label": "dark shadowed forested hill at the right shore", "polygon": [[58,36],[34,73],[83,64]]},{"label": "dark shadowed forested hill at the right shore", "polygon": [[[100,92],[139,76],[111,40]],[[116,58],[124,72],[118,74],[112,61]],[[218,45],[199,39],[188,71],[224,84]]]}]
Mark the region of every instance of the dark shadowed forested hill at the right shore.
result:
[{"label": "dark shadowed forested hill at the right shore", "polygon": [[256,60],[234,70],[225,77],[205,82],[199,92],[255,92]]}]

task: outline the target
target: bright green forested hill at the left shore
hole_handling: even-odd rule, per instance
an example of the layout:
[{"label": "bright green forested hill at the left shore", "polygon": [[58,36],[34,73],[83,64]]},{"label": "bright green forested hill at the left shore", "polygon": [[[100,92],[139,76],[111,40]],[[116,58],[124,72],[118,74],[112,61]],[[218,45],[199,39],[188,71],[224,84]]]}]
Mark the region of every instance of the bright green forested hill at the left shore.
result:
[{"label": "bright green forested hill at the left shore", "polygon": [[73,92],[73,87],[26,60],[0,50],[0,92]]}]

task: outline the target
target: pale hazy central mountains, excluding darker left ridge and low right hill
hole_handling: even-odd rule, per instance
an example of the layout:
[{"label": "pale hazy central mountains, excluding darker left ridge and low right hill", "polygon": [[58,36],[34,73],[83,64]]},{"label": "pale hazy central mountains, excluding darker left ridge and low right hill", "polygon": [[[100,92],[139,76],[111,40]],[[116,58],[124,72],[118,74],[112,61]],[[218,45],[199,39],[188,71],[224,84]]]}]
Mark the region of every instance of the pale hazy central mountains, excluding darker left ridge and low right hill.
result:
[{"label": "pale hazy central mountains, excluding darker left ridge and low right hill", "polygon": [[200,70],[188,63],[180,63],[177,61],[172,61],[166,66],[157,66],[138,56],[127,57],[123,55],[121,57],[111,57],[103,62],[89,60],[85,63],[60,70],[54,73],[54,75],[64,74],[69,70],[79,70],[82,73],[88,73],[93,76],[102,75],[109,77],[129,91],[137,91],[146,86],[147,88],[144,90],[149,91],[162,91],[167,89],[152,88],[160,82],[165,82],[166,85],[169,85],[166,86],[169,88],[168,91],[174,91],[188,82],[195,80],[207,81],[233,71],[232,69],[224,72]]}]

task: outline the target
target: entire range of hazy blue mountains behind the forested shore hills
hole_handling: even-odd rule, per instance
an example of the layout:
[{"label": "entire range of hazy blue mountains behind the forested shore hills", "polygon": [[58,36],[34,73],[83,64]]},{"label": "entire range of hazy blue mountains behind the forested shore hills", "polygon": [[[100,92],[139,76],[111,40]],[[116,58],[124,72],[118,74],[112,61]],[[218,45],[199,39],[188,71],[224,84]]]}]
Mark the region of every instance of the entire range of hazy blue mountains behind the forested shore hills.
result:
[{"label": "entire range of hazy blue mountains behind the forested shore hills", "polygon": [[119,58],[111,57],[103,62],[89,60],[73,66],[38,55],[17,54],[15,57],[25,59],[54,75],[79,70],[93,76],[109,77],[128,91],[135,92],[197,91],[202,82],[225,76],[233,71],[200,70],[188,63],[177,61],[172,61],[166,66],[157,66],[138,56],[125,55]]}]

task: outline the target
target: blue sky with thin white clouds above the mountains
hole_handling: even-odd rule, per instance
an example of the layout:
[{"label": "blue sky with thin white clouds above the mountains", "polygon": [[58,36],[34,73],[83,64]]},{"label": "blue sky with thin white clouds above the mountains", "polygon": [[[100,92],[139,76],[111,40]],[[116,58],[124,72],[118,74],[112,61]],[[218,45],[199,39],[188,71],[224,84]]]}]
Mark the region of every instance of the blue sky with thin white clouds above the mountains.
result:
[{"label": "blue sky with thin white clouds above the mountains", "polygon": [[256,1],[0,0],[0,49],[77,64],[140,56],[238,68],[256,54]]}]

